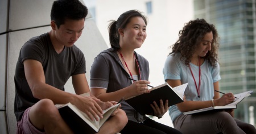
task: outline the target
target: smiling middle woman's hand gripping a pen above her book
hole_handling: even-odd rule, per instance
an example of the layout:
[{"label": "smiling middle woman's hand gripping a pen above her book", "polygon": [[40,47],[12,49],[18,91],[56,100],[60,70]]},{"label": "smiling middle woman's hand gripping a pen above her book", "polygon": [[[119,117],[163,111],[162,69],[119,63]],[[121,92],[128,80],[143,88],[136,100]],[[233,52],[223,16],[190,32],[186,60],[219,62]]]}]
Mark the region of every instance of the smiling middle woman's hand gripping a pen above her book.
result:
[{"label": "smiling middle woman's hand gripping a pen above her book", "polygon": [[150,93],[150,90],[148,90],[147,84],[150,84],[150,81],[147,81],[147,80],[134,81],[134,83],[131,84],[128,89],[131,96],[137,96],[143,93]]}]

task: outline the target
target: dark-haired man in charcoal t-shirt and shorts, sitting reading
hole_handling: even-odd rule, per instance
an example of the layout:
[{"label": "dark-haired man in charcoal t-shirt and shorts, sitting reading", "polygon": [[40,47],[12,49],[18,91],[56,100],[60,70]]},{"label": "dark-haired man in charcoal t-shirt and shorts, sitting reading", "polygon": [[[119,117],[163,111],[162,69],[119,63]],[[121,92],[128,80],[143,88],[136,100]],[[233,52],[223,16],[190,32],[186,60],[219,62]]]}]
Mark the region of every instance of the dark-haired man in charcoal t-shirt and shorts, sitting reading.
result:
[{"label": "dark-haired man in charcoal t-shirt and shorts, sitting reading", "polygon": [[[53,2],[51,31],[31,38],[20,50],[14,77],[17,133],[73,133],[55,107],[57,103],[71,102],[90,119],[101,118],[102,109],[116,103],[78,95],[90,92],[84,54],[74,45],[87,14],[78,0]],[[70,76],[76,94],[64,92]],[[118,109],[98,133],[119,132],[126,123],[124,111]]]}]

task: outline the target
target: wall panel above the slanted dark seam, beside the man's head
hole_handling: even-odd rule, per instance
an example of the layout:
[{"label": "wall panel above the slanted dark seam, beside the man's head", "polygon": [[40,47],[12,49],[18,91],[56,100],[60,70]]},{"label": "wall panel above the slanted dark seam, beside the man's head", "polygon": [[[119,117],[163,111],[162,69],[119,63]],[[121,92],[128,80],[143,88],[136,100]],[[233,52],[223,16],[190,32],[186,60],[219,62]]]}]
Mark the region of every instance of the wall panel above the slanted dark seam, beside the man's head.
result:
[{"label": "wall panel above the slanted dark seam, beside the man's head", "polygon": [[49,25],[52,3],[53,0],[10,0],[9,29],[15,31]]}]

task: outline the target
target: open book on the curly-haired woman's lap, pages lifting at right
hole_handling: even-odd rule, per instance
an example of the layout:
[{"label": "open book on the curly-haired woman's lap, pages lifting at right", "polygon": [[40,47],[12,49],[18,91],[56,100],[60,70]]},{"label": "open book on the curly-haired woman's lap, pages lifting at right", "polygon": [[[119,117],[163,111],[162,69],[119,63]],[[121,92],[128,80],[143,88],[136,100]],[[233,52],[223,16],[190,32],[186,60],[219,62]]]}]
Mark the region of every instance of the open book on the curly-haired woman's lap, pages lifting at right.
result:
[{"label": "open book on the curly-haired woman's lap, pages lifting at right", "polygon": [[195,114],[195,113],[200,113],[200,112],[204,112],[204,111],[209,111],[209,110],[218,110],[218,109],[236,109],[237,108],[237,104],[239,102],[241,102],[245,97],[250,96],[251,92],[253,92],[252,90],[243,92],[243,93],[238,93],[238,94],[234,94],[235,97],[237,97],[234,102],[229,103],[228,105],[225,106],[214,106],[214,107],[207,107],[205,109],[199,109],[199,110],[193,110],[193,111],[188,111],[188,112],[184,112],[184,115],[187,114]]}]

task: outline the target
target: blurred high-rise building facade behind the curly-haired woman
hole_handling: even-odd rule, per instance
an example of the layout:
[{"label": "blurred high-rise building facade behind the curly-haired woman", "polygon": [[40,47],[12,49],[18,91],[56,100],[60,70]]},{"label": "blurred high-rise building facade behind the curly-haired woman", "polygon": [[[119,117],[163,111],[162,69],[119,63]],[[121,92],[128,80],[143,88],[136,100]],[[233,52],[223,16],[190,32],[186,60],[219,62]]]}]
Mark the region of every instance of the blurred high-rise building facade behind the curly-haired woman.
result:
[{"label": "blurred high-rise building facade behind the curly-haired woman", "polygon": [[256,106],[256,1],[194,0],[195,18],[216,26],[220,37],[220,90],[241,93],[253,90],[238,104],[235,117],[254,124]]}]

